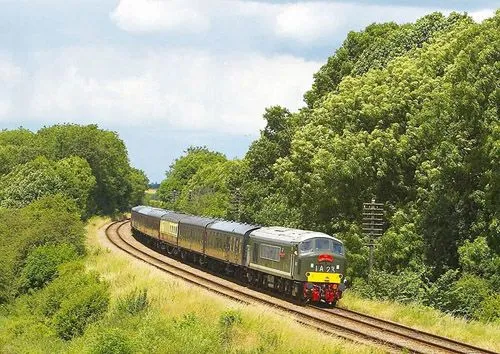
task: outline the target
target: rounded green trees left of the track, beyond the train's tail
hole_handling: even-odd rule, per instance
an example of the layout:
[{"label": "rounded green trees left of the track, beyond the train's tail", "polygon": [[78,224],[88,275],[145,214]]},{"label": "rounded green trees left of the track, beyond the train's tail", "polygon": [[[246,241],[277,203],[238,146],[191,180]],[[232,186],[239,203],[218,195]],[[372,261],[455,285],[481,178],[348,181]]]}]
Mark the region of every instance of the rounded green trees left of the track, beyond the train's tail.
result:
[{"label": "rounded green trees left of the track, beyond the train's tail", "polygon": [[114,132],[64,124],[32,133],[0,132],[0,206],[20,208],[45,195],[75,199],[82,217],[126,210],[141,201],[147,178],[130,166]]}]

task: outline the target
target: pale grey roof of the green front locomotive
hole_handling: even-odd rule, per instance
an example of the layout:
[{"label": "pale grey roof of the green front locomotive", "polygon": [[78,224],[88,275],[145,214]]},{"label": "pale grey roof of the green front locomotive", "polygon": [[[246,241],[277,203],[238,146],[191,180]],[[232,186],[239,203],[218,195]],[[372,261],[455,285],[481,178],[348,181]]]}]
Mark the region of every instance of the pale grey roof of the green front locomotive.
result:
[{"label": "pale grey roof of the green front locomotive", "polygon": [[263,241],[275,241],[285,244],[296,244],[311,238],[323,237],[330,238],[339,243],[342,243],[342,241],[340,241],[338,238],[324,234],[322,232],[291,229],[281,226],[262,227],[260,229],[252,231],[250,233],[250,237]]}]

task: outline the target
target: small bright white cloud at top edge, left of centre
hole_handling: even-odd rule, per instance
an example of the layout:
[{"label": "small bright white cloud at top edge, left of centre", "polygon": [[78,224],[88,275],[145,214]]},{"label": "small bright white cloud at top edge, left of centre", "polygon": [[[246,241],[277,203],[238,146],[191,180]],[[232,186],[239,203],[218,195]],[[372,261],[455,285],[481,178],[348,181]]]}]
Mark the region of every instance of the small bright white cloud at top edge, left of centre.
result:
[{"label": "small bright white cloud at top edge, left of centre", "polygon": [[110,17],[131,32],[203,32],[210,28],[210,18],[198,5],[186,0],[120,0]]}]

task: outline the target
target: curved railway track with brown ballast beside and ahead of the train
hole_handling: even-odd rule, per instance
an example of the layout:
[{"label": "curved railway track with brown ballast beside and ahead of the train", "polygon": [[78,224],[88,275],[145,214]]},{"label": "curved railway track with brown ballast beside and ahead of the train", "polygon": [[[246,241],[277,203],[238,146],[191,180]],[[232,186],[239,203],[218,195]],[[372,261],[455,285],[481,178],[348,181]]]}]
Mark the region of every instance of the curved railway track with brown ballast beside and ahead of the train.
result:
[{"label": "curved railway track with brown ballast beside and ahead of the train", "polygon": [[395,322],[358,312],[335,308],[302,307],[166,257],[136,241],[130,224],[120,221],[106,228],[111,243],[126,253],[187,282],[246,304],[264,304],[286,312],[308,327],[389,352],[413,353],[495,353],[445,337],[416,330]]}]

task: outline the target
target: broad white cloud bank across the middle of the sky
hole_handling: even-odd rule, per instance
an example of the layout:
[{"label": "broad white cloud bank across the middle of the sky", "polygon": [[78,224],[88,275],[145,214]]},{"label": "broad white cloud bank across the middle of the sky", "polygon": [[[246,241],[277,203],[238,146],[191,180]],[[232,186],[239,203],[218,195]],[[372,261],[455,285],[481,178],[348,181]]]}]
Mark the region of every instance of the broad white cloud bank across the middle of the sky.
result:
[{"label": "broad white cloud bank across the middle of the sky", "polygon": [[129,53],[72,48],[39,53],[11,115],[44,123],[166,125],[256,134],[270,105],[302,106],[321,63],[289,55],[178,49]]}]

